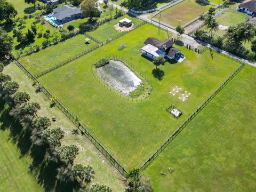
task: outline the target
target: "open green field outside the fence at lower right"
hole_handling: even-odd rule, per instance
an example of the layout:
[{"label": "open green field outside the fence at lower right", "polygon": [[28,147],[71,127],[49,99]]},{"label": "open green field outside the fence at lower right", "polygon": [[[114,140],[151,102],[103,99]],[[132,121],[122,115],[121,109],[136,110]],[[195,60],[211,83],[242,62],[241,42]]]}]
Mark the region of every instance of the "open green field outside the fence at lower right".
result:
[{"label": "open green field outside the fence at lower right", "polygon": [[155,191],[256,190],[255,73],[242,69],[147,167]]}]

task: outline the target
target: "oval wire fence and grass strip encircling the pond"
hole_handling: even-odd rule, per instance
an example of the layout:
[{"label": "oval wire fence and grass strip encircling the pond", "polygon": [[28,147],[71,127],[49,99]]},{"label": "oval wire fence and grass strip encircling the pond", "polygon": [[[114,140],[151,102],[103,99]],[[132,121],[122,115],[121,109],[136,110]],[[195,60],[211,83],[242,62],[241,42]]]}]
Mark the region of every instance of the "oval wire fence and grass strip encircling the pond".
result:
[{"label": "oval wire fence and grass strip encircling the pond", "polygon": [[91,68],[91,71],[92,71],[92,75],[93,77],[95,78],[95,80],[100,83],[102,86],[104,86],[108,91],[110,91],[111,93],[113,93],[114,95],[116,95],[117,97],[119,98],[122,98],[124,100],[127,100],[127,101],[132,101],[132,102],[139,102],[139,101],[143,101],[143,100],[146,100],[147,98],[150,97],[152,91],[153,91],[153,85],[152,83],[149,81],[149,79],[143,75],[140,70],[138,70],[137,67],[135,67],[130,61],[126,60],[125,58],[123,57],[120,57],[119,55],[109,55],[108,57],[105,57],[106,59],[108,60],[118,60],[118,61],[121,61],[124,63],[125,66],[127,66],[129,69],[131,69],[131,71],[133,71],[135,74],[139,75],[141,78],[142,78],[142,82],[145,82],[147,84],[146,85],[146,90],[145,90],[145,93],[142,93],[139,97],[137,98],[133,98],[133,97],[130,97],[129,95],[124,95],[118,91],[116,91],[116,89],[110,87],[109,85],[106,84],[105,81],[103,81],[99,76],[98,74],[96,74],[97,72],[93,69],[93,66]]}]

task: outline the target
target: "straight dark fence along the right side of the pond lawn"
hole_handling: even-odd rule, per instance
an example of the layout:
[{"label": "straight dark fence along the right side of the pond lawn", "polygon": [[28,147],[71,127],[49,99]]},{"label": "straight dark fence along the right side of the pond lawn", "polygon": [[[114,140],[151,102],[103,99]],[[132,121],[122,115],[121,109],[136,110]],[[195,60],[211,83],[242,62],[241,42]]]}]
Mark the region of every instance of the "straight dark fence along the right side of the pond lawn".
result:
[{"label": "straight dark fence along the right side of the pond lawn", "polygon": [[169,145],[169,143],[188,125],[188,123],[217,95],[231,79],[239,73],[244,68],[244,63],[235,70],[235,72],[224,82],[219,88],[214,91],[206,101],[196,109],[196,111],[177,129],[172,133],[172,135],[147,159],[145,163],[143,163],[140,167],[140,170],[145,170],[146,167],[154,161],[154,159]]}]

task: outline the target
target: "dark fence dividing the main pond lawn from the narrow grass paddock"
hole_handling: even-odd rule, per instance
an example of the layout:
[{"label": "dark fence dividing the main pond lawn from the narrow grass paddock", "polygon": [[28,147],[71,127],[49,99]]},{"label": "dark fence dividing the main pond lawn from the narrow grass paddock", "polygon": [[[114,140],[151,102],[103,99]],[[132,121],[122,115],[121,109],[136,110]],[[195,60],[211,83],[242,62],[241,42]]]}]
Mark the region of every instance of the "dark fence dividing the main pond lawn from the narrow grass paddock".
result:
[{"label": "dark fence dividing the main pond lawn from the narrow grass paddock", "polygon": [[98,49],[100,46],[101,46],[101,45],[94,46],[94,47],[92,47],[91,49],[84,51],[83,53],[77,54],[77,55],[75,55],[74,57],[69,58],[69,59],[67,59],[66,61],[63,61],[63,62],[59,63],[58,65],[55,65],[55,66],[53,66],[53,67],[51,67],[51,68],[49,68],[49,69],[46,69],[46,70],[42,71],[42,72],[39,73],[39,74],[36,74],[35,77],[38,78],[38,77],[41,77],[41,76],[43,76],[43,75],[45,75],[45,74],[47,74],[47,73],[50,73],[51,71],[53,71],[53,70],[55,70],[55,69],[57,69],[57,68],[59,68],[59,67],[62,67],[62,66],[64,66],[64,65],[66,65],[67,63],[69,63],[69,62],[71,62],[71,61],[73,61],[73,60],[75,60],[75,59],[78,59],[79,57],[82,57],[83,55],[85,55],[85,54],[87,54],[87,53],[90,53],[90,52],[94,51],[95,49]]}]

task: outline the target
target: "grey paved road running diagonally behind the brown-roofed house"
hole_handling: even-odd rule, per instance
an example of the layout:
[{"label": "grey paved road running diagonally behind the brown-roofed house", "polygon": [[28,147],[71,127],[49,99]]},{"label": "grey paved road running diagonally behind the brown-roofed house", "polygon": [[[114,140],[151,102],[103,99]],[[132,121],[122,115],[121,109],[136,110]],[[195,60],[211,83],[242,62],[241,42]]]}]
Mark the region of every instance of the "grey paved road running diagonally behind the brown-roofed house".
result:
[{"label": "grey paved road running diagonally behind the brown-roofed house", "polygon": [[[141,20],[144,20],[144,21],[153,23],[153,25],[155,25],[155,26],[157,26],[157,27],[159,26],[159,23],[158,23],[158,22],[155,22],[155,21],[150,20],[150,19],[148,19],[148,18],[146,18],[146,17],[143,17],[143,15],[139,15],[139,14],[133,13],[133,12],[131,12],[131,11],[125,9],[124,7],[121,7],[121,6],[119,6],[119,5],[116,5],[116,4],[112,3],[112,2],[109,2],[109,4],[110,4],[110,5],[113,5],[114,7],[117,7],[117,9],[121,9],[121,10],[123,10],[124,12],[133,15],[134,17],[137,17],[137,18],[139,18],[139,19],[141,19]],[[170,27],[164,26],[164,25],[162,25],[162,24],[160,24],[160,27],[169,30],[172,34],[175,34],[175,35],[178,34],[176,30],[174,30],[174,29],[172,29],[172,28],[170,28]],[[195,38],[193,38],[193,37],[190,37],[190,36],[188,36],[188,35],[186,35],[186,34],[182,34],[181,36],[182,36],[183,38],[187,39],[187,40],[190,41],[190,42],[194,42],[194,43],[196,43],[196,44],[201,44],[201,45],[204,45],[204,46],[207,46],[207,47],[211,47],[212,49],[214,49],[214,50],[216,50],[216,51],[218,51],[218,52],[221,52],[221,53],[223,53],[223,54],[225,54],[225,55],[228,55],[229,57],[233,57],[233,58],[238,59],[238,60],[240,60],[240,61],[242,61],[242,62],[245,62],[245,63],[247,63],[247,64],[249,64],[249,65],[251,65],[251,66],[253,66],[253,67],[256,67],[256,63],[254,63],[254,62],[252,62],[252,61],[249,61],[249,60],[246,60],[246,59],[242,59],[242,58],[240,58],[240,57],[238,57],[238,56],[236,56],[236,55],[234,55],[234,54],[231,54],[231,53],[229,53],[229,52],[227,52],[227,51],[223,51],[223,50],[219,49],[218,47],[211,46],[210,44],[207,44],[207,43],[205,43],[205,42],[201,42],[201,41],[199,41],[198,39],[195,39]]]}]

